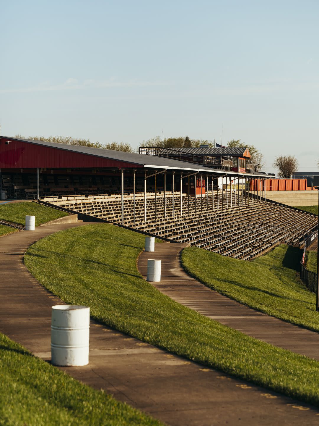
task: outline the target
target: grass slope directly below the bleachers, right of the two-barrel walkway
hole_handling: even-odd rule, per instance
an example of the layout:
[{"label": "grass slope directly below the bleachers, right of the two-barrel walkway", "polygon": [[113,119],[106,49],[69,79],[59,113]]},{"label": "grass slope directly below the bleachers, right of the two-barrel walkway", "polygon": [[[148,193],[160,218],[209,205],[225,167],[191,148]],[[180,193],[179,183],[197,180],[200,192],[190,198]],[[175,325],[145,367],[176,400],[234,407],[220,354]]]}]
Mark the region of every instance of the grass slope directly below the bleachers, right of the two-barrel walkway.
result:
[{"label": "grass slope directly below the bleachers, right of the two-barrel walkway", "polygon": [[285,244],[247,262],[191,247],[182,252],[186,271],[231,299],[273,317],[319,331],[316,296],[299,278],[302,250]]}]

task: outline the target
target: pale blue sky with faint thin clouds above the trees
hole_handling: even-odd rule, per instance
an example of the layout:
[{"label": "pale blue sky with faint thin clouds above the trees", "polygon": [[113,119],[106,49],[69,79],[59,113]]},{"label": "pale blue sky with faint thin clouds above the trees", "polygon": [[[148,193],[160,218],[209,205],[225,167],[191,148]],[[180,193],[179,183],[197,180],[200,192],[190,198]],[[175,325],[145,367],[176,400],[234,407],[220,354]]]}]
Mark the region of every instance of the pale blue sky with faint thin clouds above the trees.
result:
[{"label": "pale blue sky with faint thin clouds above the trees", "polygon": [[318,170],[317,0],[0,5],[2,135],[240,139]]}]

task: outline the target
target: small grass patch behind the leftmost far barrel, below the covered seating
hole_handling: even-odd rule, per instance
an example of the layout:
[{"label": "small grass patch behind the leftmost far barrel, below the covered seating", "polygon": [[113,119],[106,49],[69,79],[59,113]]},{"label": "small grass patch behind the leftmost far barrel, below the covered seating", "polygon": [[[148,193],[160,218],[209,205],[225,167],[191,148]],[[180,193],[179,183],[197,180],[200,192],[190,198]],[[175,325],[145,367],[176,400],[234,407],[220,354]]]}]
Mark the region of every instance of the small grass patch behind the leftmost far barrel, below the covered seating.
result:
[{"label": "small grass patch behind the leftmost far barrel, below the covered seating", "polygon": [[25,225],[26,216],[35,216],[35,225],[68,216],[68,213],[35,202],[8,203],[0,205],[0,219]]}]

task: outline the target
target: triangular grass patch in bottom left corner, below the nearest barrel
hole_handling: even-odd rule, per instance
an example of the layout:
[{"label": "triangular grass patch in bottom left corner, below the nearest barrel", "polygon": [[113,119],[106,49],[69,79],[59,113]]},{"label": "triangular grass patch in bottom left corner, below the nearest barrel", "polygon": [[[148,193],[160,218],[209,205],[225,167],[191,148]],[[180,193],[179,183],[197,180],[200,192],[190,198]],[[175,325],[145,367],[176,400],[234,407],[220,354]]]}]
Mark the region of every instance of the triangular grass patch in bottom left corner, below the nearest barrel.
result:
[{"label": "triangular grass patch in bottom left corner, below the nearest barrel", "polygon": [[0,425],[160,425],[0,333]]}]

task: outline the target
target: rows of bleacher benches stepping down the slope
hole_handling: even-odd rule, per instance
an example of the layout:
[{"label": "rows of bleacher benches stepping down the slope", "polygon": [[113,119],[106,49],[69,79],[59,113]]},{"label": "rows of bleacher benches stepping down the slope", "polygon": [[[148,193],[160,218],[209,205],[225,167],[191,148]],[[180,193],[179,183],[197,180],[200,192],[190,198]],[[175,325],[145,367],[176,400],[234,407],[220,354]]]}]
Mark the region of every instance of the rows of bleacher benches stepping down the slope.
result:
[{"label": "rows of bleacher benches stepping down the slope", "polygon": [[[121,223],[121,199],[119,196],[90,197],[89,199],[54,200],[54,204],[80,213]],[[67,199],[71,198],[71,199]],[[276,202],[260,201],[243,194],[228,193],[200,197],[196,201],[186,194],[164,198],[157,196],[157,219],[155,220],[155,199],[147,199],[147,222],[144,221],[144,198],[138,194],[136,198],[136,220],[134,223],[134,204],[132,196],[124,199],[124,225],[132,229],[144,231],[154,236],[161,236],[176,242],[189,242],[191,245],[214,251],[224,256],[237,259],[253,259],[276,245],[304,244],[305,239],[317,228],[318,217],[311,213],[288,207]],[[49,201],[49,200],[48,200]],[[51,200],[50,200],[51,201]],[[231,207],[231,202],[233,206]],[[182,214],[181,214],[182,206]],[[166,210],[166,217],[165,211]]]}]

